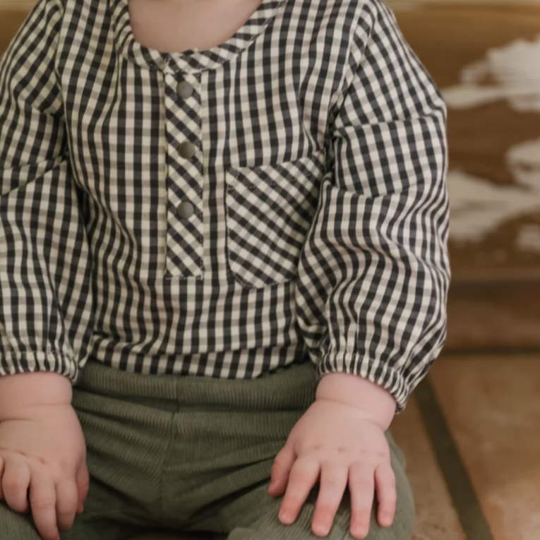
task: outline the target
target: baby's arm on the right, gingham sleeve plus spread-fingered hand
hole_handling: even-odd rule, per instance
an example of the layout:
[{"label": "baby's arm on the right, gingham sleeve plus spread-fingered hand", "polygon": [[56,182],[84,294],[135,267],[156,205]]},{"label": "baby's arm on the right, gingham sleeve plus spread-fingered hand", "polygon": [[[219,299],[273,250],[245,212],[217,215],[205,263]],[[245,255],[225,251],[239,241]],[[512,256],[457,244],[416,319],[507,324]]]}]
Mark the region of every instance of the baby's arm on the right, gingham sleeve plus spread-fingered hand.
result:
[{"label": "baby's arm on the right, gingham sleeve plus spread-fingered hand", "polygon": [[368,534],[374,489],[378,522],[395,514],[384,431],[443,347],[450,279],[445,103],[388,6],[362,10],[296,287],[323,378],[269,491],[284,493],[280,520],[291,523],[319,481],[312,528],[325,536],[348,486],[356,538]]}]

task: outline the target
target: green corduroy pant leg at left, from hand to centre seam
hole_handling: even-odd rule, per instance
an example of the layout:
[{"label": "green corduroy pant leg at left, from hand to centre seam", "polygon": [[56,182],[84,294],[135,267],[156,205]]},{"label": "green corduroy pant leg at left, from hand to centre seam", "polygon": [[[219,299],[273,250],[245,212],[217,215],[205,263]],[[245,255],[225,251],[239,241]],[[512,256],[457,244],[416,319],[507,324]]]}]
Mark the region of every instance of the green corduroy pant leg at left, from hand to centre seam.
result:
[{"label": "green corduroy pant leg at left, from hand to centre seam", "polygon": [[[160,399],[141,404],[144,392],[124,400],[117,395],[124,390],[122,373],[92,364],[85,371],[72,403],[85,436],[90,489],[85,511],[61,532],[61,540],[125,540],[159,530],[162,462],[172,423],[168,409],[176,410],[176,404]],[[0,540],[41,537],[31,515],[0,503]]]}]

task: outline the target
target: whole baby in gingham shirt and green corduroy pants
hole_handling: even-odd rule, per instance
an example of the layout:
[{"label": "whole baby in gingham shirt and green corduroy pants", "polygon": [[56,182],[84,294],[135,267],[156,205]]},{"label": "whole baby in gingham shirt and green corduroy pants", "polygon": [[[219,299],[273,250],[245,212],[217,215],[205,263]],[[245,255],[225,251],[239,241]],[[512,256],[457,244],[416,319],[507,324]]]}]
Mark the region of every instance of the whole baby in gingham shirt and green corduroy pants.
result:
[{"label": "whole baby in gingham shirt and green corduroy pants", "polygon": [[0,539],[409,540],[446,113],[382,0],[37,1],[0,59]]}]

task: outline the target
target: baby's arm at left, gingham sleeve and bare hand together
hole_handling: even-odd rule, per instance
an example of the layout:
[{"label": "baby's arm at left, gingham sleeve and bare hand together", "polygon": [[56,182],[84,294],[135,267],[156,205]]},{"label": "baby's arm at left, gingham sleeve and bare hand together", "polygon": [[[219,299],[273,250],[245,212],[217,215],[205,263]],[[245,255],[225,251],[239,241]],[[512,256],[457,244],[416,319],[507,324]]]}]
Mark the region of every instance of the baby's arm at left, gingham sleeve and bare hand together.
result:
[{"label": "baby's arm at left, gingham sleeve and bare hand together", "polygon": [[29,491],[47,540],[88,488],[71,383],[92,334],[92,272],[59,83],[63,13],[40,0],[0,59],[0,498],[24,512]]}]

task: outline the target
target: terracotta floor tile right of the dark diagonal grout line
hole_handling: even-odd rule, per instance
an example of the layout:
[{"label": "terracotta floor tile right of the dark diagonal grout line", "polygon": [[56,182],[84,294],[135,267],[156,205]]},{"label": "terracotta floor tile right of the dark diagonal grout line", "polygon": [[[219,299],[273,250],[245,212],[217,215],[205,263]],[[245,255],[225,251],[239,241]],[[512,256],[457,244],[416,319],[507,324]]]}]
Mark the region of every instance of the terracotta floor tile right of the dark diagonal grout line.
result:
[{"label": "terracotta floor tile right of the dark diagonal grout line", "polygon": [[441,359],[430,373],[493,540],[540,538],[539,360]]}]

